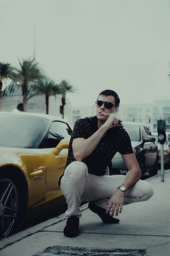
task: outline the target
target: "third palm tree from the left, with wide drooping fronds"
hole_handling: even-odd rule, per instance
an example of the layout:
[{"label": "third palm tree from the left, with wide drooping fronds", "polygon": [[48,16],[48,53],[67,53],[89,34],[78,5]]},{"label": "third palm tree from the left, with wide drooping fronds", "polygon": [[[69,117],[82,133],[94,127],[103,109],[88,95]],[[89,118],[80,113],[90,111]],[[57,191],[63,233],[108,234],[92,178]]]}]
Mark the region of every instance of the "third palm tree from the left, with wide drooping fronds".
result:
[{"label": "third palm tree from the left, with wide drooping fronds", "polygon": [[46,97],[46,114],[49,113],[49,96],[56,96],[56,94],[61,94],[59,86],[52,79],[41,79],[35,85],[30,86],[30,91],[32,90],[32,95],[28,99],[35,95],[45,94]]}]

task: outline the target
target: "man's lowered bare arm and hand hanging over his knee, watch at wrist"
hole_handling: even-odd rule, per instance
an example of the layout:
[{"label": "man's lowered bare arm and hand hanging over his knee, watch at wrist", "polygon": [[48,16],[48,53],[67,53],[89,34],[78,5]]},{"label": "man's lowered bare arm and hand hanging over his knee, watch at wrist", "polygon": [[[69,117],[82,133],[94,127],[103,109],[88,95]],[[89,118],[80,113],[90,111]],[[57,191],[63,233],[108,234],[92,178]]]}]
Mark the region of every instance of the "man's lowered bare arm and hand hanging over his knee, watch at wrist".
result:
[{"label": "man's lowered bare arm and hand hanging over his knee, watch at wrist", "polygon": [[[125,179],[120,186],[124,186],[126,190],[132,187],[135,182],[141,177],[141,170],[139,164],[136,160],[134,154],[122,155],[123,161],[125,162],[129,172],[126,174]],[[109,212],[109,209],[112,207],[112,216],[116,210],[116,216],[118,216],[118,212],[122,212],[123,202],[124,202],[124,192],[120,189],[117,189],[115,193],[110,197],[107,204],[106,213]],[[112,206],[113,205],[113,206]],[[119,211],[120,208],[120,211]]]}]

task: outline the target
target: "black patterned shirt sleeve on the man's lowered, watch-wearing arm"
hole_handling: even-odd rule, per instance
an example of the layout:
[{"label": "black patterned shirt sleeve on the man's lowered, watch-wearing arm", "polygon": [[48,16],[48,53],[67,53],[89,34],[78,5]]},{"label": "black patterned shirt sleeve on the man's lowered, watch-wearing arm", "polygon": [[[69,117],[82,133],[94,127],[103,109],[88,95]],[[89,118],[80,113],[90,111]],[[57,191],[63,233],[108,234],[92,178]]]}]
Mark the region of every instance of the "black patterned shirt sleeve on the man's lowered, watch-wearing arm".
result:
[{"label": "black patterned shirt sleeve on the man's lowered, watch-wearing arm", "polygon": [[120,129],[118,145],[119,145],[118,152],[121,155],[134,153],[129,134],[124,128]]}]

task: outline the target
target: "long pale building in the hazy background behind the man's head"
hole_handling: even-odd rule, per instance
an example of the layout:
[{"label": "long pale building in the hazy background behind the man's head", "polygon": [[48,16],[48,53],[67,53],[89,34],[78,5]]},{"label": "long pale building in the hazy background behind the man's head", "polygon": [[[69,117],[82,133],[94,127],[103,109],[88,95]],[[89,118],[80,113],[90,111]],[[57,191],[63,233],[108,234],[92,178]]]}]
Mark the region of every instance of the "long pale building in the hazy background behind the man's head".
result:
[{"label": "long pale building in the hazy background behind the man's head", "polygon": [[[96,106],[73,107],[73,125],[77,119],[96,115]],[[118,116],[123,121],[139,122],[151,131],[157,131],[157,120],[166,120],[166,131],[170,131],[170,100],[155,100],[154,103],[120,104]]]}]

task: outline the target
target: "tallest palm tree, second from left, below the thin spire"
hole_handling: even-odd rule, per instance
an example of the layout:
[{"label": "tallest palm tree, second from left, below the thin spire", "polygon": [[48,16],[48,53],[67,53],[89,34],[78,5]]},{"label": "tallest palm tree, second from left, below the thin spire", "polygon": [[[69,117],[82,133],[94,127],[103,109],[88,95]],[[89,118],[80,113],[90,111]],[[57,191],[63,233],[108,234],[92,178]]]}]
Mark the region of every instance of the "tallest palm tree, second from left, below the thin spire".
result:
[{"label": "tallest palm tree, second from left, below the thin spire", "polygon": [[28,101],[28,83],[41,79],[43,76],[37,67],[38,63],[35,60],[23,60],[22,63],[19,60],[20,69],[15,68],[12,72],[11,79],[20,81],[22,86],[22,96],[23,96],[23,111],[27,111],[27,101]]}]

